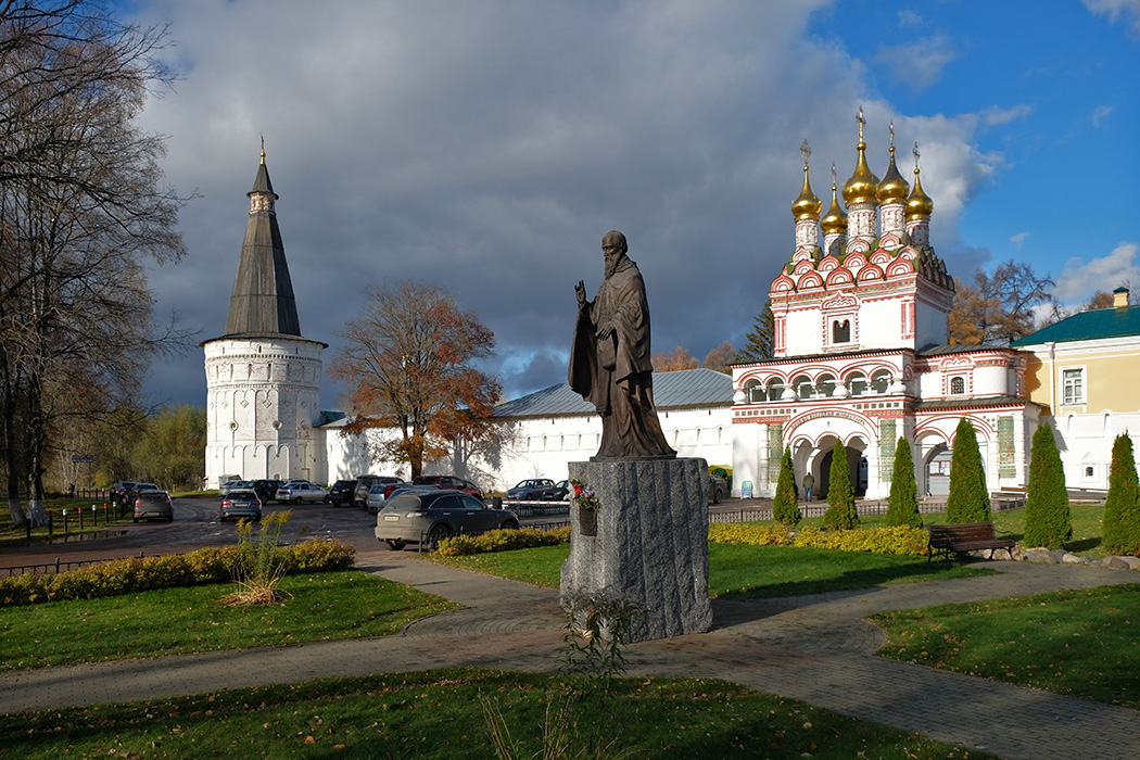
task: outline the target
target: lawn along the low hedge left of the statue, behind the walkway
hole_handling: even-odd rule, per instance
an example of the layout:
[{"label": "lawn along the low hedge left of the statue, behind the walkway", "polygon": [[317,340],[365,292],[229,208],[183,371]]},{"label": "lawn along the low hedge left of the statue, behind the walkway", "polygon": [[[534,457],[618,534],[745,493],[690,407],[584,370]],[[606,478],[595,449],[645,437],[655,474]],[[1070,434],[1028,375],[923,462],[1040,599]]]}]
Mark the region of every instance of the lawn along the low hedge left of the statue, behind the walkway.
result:
[{"label": "lawn along the low hedge left of the statue, behind the walkway", "polygon": [[0,669],[389,636],[459,605],[359,571],[287,575],[284,602],[227,607],[231,583],[0,610]]}]

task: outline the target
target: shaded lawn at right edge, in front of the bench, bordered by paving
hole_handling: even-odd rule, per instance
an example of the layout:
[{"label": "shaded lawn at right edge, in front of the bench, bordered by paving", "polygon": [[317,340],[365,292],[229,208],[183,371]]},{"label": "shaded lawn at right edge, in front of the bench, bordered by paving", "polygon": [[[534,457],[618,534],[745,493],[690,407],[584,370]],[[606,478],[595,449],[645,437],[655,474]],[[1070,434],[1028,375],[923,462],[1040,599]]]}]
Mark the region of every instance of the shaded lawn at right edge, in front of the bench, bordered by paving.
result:
[{"label": "shaded lawn at right edge, in front of the bench, bordered by paving", "polygon": [[[904,662],[1140,709],[1140,585],[885,612]],[[1135,621],[1135,622],[1133,622]]]}]

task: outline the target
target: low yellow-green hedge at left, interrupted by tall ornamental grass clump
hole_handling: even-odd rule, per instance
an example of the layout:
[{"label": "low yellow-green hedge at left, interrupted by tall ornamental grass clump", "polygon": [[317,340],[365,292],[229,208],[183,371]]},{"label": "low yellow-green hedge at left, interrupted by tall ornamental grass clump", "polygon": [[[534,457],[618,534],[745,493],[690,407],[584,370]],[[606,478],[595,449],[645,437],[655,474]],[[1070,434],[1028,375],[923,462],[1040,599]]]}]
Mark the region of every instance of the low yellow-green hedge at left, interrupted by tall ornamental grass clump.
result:
[{"label": "low yellow-green hedge at left, interrupted by tall ornamental grass clump", "polygon": [[[279,547],[288,573],[350,570],[356,549],[339,539],[312,538]],[[207,547],[164,557],[128,557],[56,575],[24,573],[0,579],[0,607],[65,599],[96,599],[160,588],[226,583],[234,580],[236,546]]]}]

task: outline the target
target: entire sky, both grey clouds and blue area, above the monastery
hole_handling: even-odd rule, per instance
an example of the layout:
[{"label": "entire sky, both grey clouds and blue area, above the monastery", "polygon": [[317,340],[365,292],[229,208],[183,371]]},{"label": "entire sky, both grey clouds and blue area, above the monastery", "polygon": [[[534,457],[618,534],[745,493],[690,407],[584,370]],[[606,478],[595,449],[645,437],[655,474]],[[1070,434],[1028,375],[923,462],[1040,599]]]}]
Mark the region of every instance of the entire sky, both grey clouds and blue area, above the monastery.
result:
[{"label": "entire sky, both grey clouds and blue area, above the monastery", "polygon": [[[621,229],[654,350],[742,345],[791,253],[800,142],[822,198],[872,171],[894,121],[921,152],[950,270],[1007,259],[1078,305],[1140,288],[1140,0],[137,0],[181,74],[142,125],[197,190],[156,314],[225,329],[260,137],[302,332],[340,346],[368,285],[438,283],[497,338],[515,398],[565,379],[573,284]],[[205,402],[202,353],[155,362],[154,402]],[[326,382],[323,403],[343,387]]]}]

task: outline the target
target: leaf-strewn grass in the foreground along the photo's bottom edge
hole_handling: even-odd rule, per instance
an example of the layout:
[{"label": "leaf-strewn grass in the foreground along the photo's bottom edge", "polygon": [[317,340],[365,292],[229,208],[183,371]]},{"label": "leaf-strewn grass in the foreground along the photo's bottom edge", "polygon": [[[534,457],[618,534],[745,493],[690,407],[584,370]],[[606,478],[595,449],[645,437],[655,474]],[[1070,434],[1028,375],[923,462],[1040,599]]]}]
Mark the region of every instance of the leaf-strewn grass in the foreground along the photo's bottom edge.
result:
[{"label": "leaf-strewn grass in the foreground along the photo's bottom edge", "polygon": [[[479,700],[486,695],[519,742],[518,757],[542,757],[538,727],[562,683],[557,677],[439,670],[36,711],[5,721],[0,747],[27,760],[491,759],[496,755]],[[620,679],[604,701],[587,690],[572,710],[571,749],[603,735],[626,751],[605,757],[992,757],[719,680]]]}]

